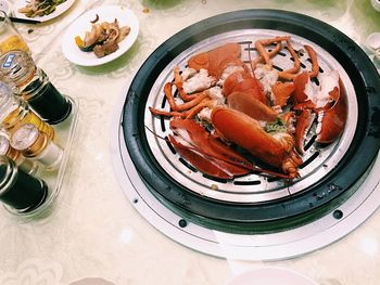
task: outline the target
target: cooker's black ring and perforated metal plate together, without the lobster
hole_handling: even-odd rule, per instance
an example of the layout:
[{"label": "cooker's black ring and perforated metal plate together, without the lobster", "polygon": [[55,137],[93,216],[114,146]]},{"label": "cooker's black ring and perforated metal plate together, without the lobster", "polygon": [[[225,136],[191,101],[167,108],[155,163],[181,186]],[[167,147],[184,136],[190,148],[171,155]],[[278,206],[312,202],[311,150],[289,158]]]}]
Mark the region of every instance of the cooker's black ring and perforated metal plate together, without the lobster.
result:
[{"label": "cooker's black ring and perforated metal plate together, without the lobster", "polygon": [[[301,177],[291,182],[254,173],[220,180],[195,171],[160,139],[167,135],[168,120],[149,112],[149,106],[167,108],[163,87],[173,81],[174,66],[185,67],[191,55],[226,42],[238,42],[242,56],[250,59],[255,55],[256,39],[283,35],[291,36],[296,50],[312,46],[321,73],[339,72],[349,111],[343,134],[325,147],[312,143]],[[300,57],[303,68],[309,68],[307,54]],[[290,62],[291,55],[284,52],[275,64],[286,68]],[[322,218],[360,190],[353,185],[379,150],[379,75],[368,56],[333,27],[284,11],[231,12],[183,29],[152,53],[128,90],[123,135],[147,191],[187,221],[229,233],[281,232]]]}]

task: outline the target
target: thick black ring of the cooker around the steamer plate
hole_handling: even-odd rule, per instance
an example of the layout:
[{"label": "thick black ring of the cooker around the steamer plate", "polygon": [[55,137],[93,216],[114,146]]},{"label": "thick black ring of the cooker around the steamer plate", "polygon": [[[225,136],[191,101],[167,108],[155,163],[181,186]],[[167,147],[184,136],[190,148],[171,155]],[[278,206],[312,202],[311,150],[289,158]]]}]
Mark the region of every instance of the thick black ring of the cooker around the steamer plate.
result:
[{"label": "thick black ring of the cooker around the steamer plate", "polygon": [[[327,50],[346,70],[358,96],[354,139],[339,165],[322,180],[291,197],[259,204],[215,200],[172,179],[159,165],[145,138],[147,98],[160,73],[180,52],[229,30],[258,28],[299,35]],[[343,204],[352,185],[377,156],[380,143],[380,80],[364,51],[347,36],[316,18],[277,10],[244,10],[201,21],[161,44],[137,73],[125,102],[127,150],[148,189],[172,210],[195,223],[227,232],[271,232],[311,222]]]}]

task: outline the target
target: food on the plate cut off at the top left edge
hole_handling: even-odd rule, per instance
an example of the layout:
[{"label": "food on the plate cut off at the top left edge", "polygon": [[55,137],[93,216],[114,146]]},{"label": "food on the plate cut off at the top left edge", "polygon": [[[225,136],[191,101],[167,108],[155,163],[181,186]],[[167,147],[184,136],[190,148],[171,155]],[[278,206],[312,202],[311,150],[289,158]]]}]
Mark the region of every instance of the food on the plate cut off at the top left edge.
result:
[{"label": "food on the plate cut off at the top left edge", "polygon": [[66,0],[30,0],[26,7],[20,8],[18,13],[25,14],[27,17],[46,16],[53,13],[59,4]]}]

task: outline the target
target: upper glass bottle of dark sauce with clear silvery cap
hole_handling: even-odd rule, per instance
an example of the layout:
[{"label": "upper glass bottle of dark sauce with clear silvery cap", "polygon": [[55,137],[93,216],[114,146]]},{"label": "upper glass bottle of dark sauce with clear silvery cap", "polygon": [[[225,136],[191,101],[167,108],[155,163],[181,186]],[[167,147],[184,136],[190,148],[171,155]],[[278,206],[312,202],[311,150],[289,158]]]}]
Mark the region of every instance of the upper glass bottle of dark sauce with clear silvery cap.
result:
[{"label": "upper glass bottle of dark sauce with clear silvery cap", "polygon": [[26,52],[11,51],[2,55],[0,75],[12,86],[13,92],[48,124],[59,124],[71,114],[72,102],[55,89]]}]

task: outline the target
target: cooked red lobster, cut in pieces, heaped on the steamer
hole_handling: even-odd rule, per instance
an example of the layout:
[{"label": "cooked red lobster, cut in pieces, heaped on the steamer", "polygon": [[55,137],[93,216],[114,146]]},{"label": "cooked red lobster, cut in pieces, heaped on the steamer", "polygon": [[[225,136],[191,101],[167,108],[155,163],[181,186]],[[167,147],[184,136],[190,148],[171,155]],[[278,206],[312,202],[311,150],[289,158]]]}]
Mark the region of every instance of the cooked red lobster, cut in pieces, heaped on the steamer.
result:
[{"label": "cooked red lobster, cut in pieces, heaped on the steamer", "polygon": [[[273,72],[270,59],[282,49],[282,41],[287,42],[288,51],[294,57],[294,67],[276,72],[276,82],[270,86],[268,95],[254,72],[262,68],[261,63],[265,64],[262,68],[264,73]],[[267,44],[277,46],[267,52],[264,48]],[[299,177],[297,169],[303,163],[300,154],[303,154],[305,133],[314,122],[314,117],[320,120],[317,142],[335,140],[344,129],[346,99],[341,91],[340,80],[338,88],[334,86],[329,90],[329,99],[322,106],[320,102],[309,99],[305,88],[309,88],[311,78],[319,72],[316,53],[311,47],[305,46],[311,56],[312,70],[301,74],[300,60],[290,43],[290,37],[257,40],[255,47],[259,56],[251,61],[251,69],[240,59],[240,46],[233,42],[191,56],[188,68],[192,74],[206,74],[207,83],[189,93],[185,90],[187,76],[176,66],[174,81],[164,87],[170,111],[153,107],[150,111],[154,116],[170,118],[173,134],[168,135],[169,142],[179,155],[201,172],[232,179],[258,171],[294,179]],[[202,72],[204,69],[207,73]],[[329,82],[327,80],[326,86],[330,86]],[[182,104],[174,99],[173,87],[178,90]],[[281,108],[288,105],[290,99],[294,106],[291,112],[282,113]],[[197,115],[198,119],[194,119]],[[294,118],[295,129],[292,126]],[[212,127],[212,133],[201,126],[204,124]],[[281,172],[256,167],[233,151],[231,143]]]}]

